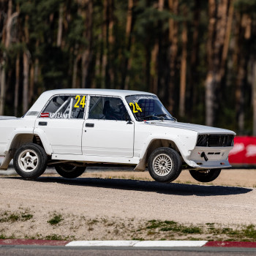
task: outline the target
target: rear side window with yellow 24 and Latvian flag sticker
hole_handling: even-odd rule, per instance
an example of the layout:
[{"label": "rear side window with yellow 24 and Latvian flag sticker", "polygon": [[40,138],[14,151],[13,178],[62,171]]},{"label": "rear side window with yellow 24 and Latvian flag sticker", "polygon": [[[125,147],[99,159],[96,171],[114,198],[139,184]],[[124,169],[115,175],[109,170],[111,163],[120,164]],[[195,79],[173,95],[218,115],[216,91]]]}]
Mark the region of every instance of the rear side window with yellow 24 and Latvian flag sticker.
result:
[{"label": "rear side window with yellow 24 and Latvian flag sticker", "polygon": [[58,95],[42,110],[40,117],[83,118],[86,105],[85,95]]}]

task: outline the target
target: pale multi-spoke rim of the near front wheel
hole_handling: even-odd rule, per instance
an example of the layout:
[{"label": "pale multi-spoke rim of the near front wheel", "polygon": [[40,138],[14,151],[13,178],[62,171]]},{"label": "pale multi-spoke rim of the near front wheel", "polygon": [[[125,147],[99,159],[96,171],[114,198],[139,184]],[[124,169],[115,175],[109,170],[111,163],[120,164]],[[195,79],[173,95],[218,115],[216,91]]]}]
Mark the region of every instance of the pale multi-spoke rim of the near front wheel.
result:
[{"label": "pale multi-spoke rim of the near front wheel", "polygon": [[173,161],[167,154],[158,154],[153,159],[153,169],[158,176],[167,176],[173,169]]}]

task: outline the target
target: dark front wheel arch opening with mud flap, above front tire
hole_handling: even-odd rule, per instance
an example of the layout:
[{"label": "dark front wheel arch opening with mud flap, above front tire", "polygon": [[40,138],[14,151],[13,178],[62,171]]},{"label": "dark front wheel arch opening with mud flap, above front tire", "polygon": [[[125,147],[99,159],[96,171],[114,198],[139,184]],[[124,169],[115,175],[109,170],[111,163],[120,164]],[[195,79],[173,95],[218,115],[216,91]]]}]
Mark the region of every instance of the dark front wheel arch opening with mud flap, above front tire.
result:
[{"label": "dark front wheel arch opening with mud flap, above front tire", "polygon": [[154,138],[153,140],[151,140],[150,143],[148,143],[148,146],[143,153],[143,157],[140,159],[140,162],[138,162],[138,165],[136,165],[135,170],[145,170],[150,154],[155,149],[162,147],[173,148],[173,150],[177,151],[178,154],[181,156],[181,161],[184,161],[181,152],[178,149],[178,146],[173,140]]}]

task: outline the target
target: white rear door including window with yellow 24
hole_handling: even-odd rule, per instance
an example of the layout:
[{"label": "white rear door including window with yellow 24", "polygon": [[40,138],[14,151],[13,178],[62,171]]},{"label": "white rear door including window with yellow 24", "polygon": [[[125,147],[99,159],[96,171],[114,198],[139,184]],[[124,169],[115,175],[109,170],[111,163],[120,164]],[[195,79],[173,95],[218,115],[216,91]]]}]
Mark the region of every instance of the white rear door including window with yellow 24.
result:
[{"label": "white rear door including window with yellow 24", "polygon": [[81,137],[86,95],[55,95],[37,118],[56,154],[82,154]]}]

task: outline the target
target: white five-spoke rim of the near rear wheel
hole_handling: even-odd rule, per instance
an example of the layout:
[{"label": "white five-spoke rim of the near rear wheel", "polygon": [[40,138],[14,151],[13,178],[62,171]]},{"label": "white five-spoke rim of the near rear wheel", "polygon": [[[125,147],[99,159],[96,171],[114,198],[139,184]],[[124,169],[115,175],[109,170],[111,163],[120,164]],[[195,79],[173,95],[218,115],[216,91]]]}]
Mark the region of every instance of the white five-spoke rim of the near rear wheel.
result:
[{"label": "white five-spoke rim of the near rear wheel", "polygon": [[38,156],[34,150],[26,149],[18,157],[18,165],[25,173],[31,173],[37,168]]}]

